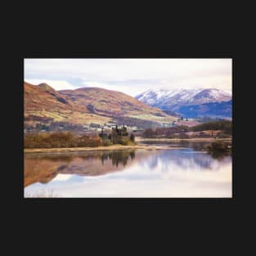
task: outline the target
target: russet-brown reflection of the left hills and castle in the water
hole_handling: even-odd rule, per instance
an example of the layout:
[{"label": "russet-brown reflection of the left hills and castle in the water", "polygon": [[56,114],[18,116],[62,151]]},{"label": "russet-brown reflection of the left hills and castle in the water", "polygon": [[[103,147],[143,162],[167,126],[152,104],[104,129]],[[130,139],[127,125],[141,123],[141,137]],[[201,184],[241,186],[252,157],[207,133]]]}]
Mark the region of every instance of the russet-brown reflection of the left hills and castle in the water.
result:
[{"label": "russet-brown reflection of the left hills and castle in the water", "polygon": [[96,176],[121,171],[132,164],[133,159],[135,150],[25,155],[25,186],[50,182],[59,173]]}]

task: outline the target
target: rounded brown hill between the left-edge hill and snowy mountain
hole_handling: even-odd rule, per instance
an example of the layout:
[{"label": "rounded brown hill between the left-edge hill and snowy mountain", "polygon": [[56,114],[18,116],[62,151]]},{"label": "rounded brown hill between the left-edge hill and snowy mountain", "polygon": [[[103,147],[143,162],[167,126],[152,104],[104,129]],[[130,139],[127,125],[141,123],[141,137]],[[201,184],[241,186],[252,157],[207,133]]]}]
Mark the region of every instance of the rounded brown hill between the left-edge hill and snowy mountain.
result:
[{"label": "rounded brown hill between the left-edge hill and snowy mountain", "polygon": [[175,119],[162,110],[148,106],[137,99],[103,88],[79,88],[76,90],[58,91],[61,96],[79,106],[88,106],[92,113],[104,116],[126,116],[137,119],[160,121]]}]

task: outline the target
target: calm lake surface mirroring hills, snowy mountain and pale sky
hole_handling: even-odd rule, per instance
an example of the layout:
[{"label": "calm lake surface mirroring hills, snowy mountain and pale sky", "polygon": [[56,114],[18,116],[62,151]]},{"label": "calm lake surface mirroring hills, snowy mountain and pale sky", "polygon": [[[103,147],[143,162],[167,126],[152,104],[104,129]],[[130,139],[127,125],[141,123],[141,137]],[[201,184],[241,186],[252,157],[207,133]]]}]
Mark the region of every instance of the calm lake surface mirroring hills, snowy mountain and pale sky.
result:
[{"label": "calm lake surface mirroring hills, snowy mountain and pale sky", "polygon": [[[152,142],[149,142],[152,144]],[[231,155],[172,150],[25,155],[25,197],[231,197]]]}]

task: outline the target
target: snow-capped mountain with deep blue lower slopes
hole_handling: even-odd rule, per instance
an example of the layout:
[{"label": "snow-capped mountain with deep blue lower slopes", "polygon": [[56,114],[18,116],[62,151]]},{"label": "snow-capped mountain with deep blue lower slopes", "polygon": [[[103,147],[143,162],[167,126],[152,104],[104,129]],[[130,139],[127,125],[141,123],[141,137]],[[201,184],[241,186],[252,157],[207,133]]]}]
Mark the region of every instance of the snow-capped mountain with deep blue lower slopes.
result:
[{"label": "snow-capped mountain with deep blue lower slopes", "polygon": [[231,92],[218,89],[155,89],[137,95],[139,101],[187,118],[202,115],[231,117]]}]

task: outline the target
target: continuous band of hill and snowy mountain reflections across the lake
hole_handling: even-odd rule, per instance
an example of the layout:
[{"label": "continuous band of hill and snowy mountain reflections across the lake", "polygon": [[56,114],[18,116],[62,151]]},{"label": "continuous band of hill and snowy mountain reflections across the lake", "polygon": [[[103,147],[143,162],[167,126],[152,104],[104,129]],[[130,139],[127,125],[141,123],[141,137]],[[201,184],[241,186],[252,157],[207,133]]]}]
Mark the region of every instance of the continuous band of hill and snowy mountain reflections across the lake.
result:
[{"label": "continuous band of hill and snowy mountain reflections across the lake", "polygon": [[[197,146],[195,146],[197,147]],[[133,164],[139,170],[175,172],[217,170],[231,163],[231,155],[209,154],[191,148],[173,150],[95,150],[56,155],[25,155],[25,184],[51,182],[58,174],[100,176],[124,171]]]}]

